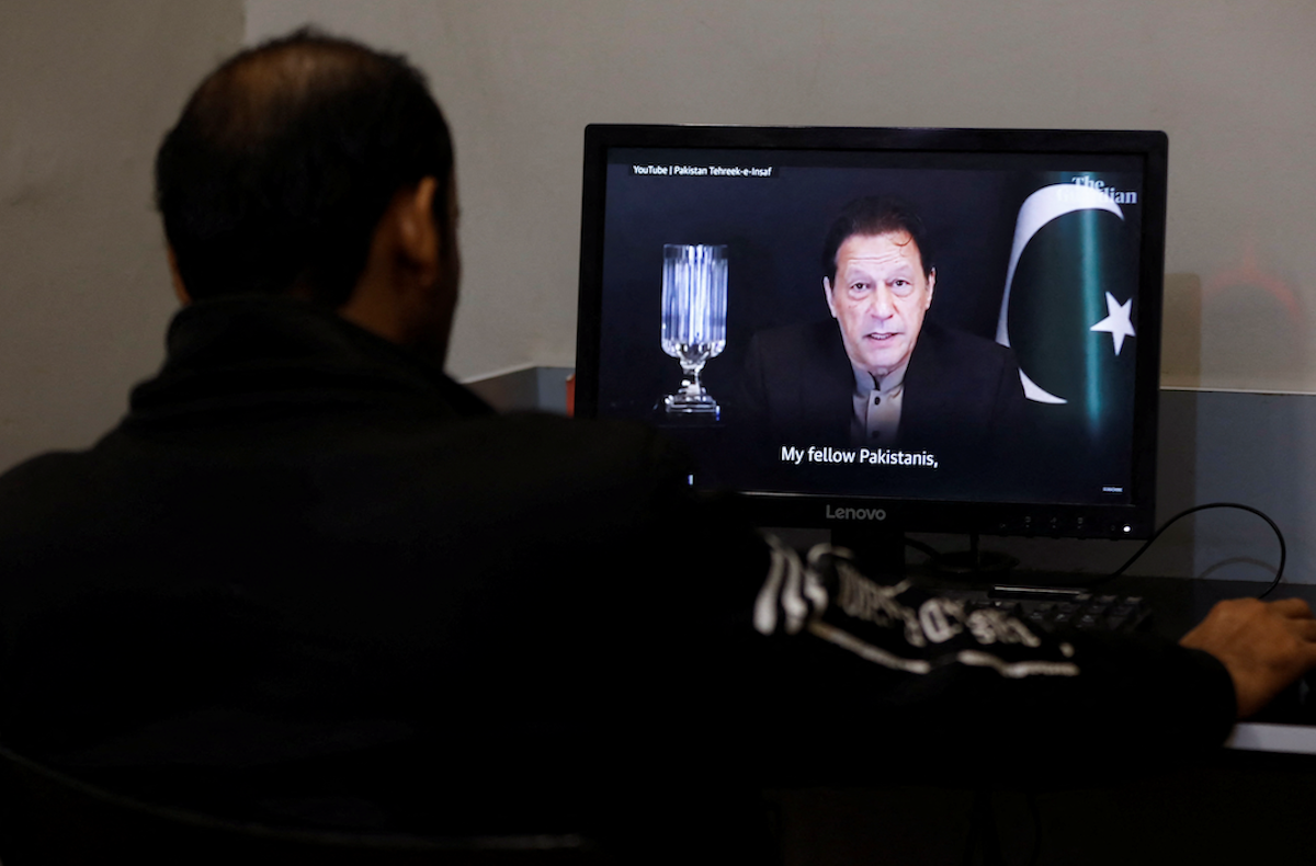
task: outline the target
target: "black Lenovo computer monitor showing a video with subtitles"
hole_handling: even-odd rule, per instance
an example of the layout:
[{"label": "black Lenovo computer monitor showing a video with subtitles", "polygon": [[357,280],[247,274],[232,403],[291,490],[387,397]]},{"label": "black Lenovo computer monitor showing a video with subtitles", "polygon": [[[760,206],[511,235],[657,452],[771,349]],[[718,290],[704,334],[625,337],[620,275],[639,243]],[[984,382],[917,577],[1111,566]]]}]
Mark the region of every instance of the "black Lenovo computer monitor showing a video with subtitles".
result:
[{"label": "black Lenovo computer monitor showing a video with subtitles", "polygon": [[1159,132],[592,125],[579,416],[766,526],[1146,538]]}]

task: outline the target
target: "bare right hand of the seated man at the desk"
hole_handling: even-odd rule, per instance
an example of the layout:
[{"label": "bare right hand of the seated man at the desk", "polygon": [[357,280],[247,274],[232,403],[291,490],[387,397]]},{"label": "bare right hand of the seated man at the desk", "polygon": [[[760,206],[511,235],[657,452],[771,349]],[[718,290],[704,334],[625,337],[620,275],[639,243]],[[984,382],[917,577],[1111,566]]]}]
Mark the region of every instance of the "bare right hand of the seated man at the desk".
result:
[{"label": "bare right hand of the seated man at the desk", "polygon": [[1238,717],[1246,719],[1316,667],[1316,619],[1302,599],[1234,599],[1211,608],[1179,644],[1224,663],[1238,696]]}]

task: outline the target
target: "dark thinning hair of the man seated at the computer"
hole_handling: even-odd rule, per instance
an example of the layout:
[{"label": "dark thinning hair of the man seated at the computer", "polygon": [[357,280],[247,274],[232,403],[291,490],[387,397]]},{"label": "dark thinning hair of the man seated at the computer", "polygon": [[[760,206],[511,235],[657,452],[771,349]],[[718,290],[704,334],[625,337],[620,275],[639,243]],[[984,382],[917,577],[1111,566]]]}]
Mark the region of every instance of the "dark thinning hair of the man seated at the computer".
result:
[{"label": "dark thinning hair of the man seated at the computer", "polygon": [[418,70],[297,30],[201,82],[155,157],[155,204],[193,300],[296,288],[338,308],[399,190],[436,178],[446,226],[451,172]]}]

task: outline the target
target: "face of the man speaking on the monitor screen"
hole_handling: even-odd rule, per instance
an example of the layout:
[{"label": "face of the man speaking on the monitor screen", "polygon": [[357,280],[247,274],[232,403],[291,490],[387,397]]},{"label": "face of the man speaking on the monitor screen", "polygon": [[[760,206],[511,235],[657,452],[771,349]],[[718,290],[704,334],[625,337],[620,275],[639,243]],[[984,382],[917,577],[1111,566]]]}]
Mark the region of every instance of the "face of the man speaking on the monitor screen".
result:
[{"label": "face of the man speaking on the monitor screen", "polygon": [[907,233],[848,237],[836,251],[836,284],[822,278],[822,292],[850,362],[880,378],[908,361],[936,282]]}]

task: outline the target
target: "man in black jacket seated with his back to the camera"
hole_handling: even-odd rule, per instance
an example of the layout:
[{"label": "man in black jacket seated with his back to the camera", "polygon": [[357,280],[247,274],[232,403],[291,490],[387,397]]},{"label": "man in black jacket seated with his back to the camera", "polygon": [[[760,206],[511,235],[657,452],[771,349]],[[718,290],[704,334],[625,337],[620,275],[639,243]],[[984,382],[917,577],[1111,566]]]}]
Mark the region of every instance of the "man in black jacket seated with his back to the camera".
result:
[{"label": "man in black jacket seated with his back to the camera", "polygon": [[1316,663],[1300,603],[1220,608],[1199,649],[973,619],[765,542],[647,429],[494,415],[437,365],[450,167],[396,57],[297,33],[200,86],[157,171],[163,369],[0,478],[7,745],[265,824],[745,862],[725,791],[890,771],[837,732],[1211,745]]}]

